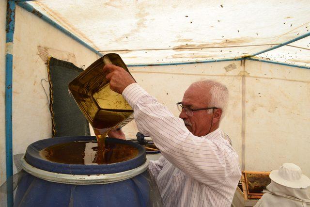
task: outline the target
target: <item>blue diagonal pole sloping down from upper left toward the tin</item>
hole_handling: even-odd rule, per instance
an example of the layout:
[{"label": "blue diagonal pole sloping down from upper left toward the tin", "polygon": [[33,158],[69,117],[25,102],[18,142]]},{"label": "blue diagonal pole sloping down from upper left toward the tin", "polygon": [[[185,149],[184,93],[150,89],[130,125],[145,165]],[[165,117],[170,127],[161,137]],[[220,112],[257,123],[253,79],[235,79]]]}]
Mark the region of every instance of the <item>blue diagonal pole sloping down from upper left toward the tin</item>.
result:
[{"label": "blue diagonal pole sloping down from upper left toward the tin", "polygon": [[96,49],[94,49],[92,46],[88,45],[86,42],[84,42],[83,40],[78,38],[76,35],[72,34],[69,31],[67,31],[62,26],[60,26],[59,24],[57,24],[56,22],[54,22],[53,20],[51,20],[50,18],[48,18],[47,16],[45,16],[44,14],[42,14],[41,12],[39,12],[38,10],[33,8],[33,6],[31,6],[29,3],[27,3],[27,2],[17,2],[17,4],[18,4],[18,6],[26,9],[28,12],[30,12],[30,13],[38,16],[39,18],[43,19],[44,21],[46,21],[48,24],[52,25],[56,29],[62,31],[67,36],[69,36],[72,39],[78,41],[78,43],[80,43],[81,45],[85,46],[86,48],[89,48],[90,50],[92,50],[94,53],[96,53],[100,57],[103,56],[102,53],[98,52]]}]

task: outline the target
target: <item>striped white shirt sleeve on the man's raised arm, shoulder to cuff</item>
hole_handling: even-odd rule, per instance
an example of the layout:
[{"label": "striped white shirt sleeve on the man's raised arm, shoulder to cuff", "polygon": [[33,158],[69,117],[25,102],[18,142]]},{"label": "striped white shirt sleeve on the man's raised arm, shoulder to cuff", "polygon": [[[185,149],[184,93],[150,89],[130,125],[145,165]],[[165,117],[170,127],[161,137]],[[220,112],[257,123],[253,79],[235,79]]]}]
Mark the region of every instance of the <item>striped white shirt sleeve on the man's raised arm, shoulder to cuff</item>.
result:
[{"label": "striped white shirt sleeve on the man's raised arm, shoulder to cuff", "polygon": [[208,185],[225,185],[232,175],[240,178],[236,154],[231,147],[194,136],[182,119],[175,117],[137,83],[127,86],[123,96],[134,109],[139,131],[152,137],[162,155],[183,173]]}]

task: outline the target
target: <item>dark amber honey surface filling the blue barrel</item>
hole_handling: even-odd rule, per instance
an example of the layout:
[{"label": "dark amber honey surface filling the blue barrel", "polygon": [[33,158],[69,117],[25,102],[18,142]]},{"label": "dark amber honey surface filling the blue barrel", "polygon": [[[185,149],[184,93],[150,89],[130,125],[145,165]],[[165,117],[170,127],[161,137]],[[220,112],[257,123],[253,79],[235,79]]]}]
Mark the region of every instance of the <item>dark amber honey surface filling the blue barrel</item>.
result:
[{"label": "dark amber honey surface filling the blue barrel", "polygon": [[41,157],[65,164],[112,164],[137,157],[139,150],[129,144],[106,143],[98,150],[97,142],[78,141],[60,143],[40,150]]}]

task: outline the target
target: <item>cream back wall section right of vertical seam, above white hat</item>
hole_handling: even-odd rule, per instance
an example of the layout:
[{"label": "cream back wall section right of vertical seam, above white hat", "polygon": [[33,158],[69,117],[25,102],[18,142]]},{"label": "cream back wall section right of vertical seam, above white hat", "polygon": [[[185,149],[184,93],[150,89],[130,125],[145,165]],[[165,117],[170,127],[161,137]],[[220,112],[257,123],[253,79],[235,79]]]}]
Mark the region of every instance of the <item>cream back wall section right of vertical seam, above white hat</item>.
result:
[{"label": "cream back wall section right of vertical seam, above white hat", "polygon": [[246,170],[293,162],[310,176],[310,70],[246,62]]}]

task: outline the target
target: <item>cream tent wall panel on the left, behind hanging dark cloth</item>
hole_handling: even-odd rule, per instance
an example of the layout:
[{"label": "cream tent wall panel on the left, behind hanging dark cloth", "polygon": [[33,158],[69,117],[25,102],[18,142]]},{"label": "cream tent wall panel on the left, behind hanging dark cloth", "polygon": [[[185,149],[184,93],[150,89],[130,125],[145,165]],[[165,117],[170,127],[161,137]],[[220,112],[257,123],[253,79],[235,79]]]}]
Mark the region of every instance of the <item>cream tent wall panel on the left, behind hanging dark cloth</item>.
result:
[{"label": "cream tent wall panel on the left, behind hanging dark cloth", "polygon": [[18,6],[15,29],[13,154],[18,154],[52,134],[49,86],[42,80],[47,79],[47,57],[87,67],[96,60],[96,54]]}]

